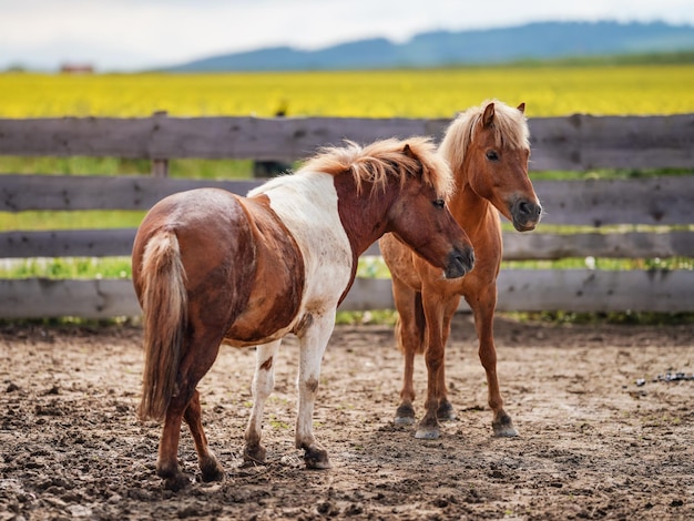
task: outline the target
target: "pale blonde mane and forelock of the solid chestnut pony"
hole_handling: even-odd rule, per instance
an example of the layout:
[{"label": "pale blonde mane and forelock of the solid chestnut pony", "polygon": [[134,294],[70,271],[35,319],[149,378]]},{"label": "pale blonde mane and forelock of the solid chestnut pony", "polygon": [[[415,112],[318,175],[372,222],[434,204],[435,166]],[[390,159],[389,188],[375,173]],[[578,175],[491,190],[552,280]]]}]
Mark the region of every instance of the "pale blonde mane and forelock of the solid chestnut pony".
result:
[{"label": "pale blonde mane and forelock of the solid chestnut pony", "polygon": [[466,151],[474,140],[476,132],[480,127],[480,120],[489,103],[494,104],[493,131],[497,146],[530,147],[530,132],[524,114],[501,101],[487,100],[479,106],[472,106],[458,114],[446,131],[439,153],[448,160],[453,170],[462,166]]}]

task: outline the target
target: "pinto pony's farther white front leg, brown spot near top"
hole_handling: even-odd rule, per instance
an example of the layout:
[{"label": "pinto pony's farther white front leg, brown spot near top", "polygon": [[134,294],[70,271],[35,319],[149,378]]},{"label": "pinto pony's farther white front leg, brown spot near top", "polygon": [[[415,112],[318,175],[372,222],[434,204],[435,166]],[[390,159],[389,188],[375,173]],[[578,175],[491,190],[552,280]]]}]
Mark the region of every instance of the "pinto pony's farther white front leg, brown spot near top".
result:
[{"label": "pinto pony's farther white front leg, brown spot near top", "polygon": [[256,347],[255,374],[253,376],[253,408],[244,436],[244,461],[246,463],[264,463],[266,451],[261,445],[263,433],[263,409],[265,400],[275,388],[275,358],[282,340],[271,341]]}]

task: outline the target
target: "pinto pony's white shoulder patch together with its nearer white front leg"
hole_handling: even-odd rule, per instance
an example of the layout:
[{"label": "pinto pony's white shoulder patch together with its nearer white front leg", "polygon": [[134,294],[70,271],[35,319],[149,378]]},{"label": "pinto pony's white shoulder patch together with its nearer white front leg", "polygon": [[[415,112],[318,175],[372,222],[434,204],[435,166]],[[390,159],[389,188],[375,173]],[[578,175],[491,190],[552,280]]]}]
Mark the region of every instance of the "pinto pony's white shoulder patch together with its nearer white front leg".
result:
[{"label": "pinto pony's white shoulder patch together with its nearer white front leg", "polygon": [[[269,206],[294,236],[306,269],[306,287],[295,325],[299,337],[296,447],[314,459],[312,467],[328,468],[327,452],[313,435],[313,415],[320,379],[320,360],[335,327],[335,311],[351,277],[353,253],[337,207],[335,176],[299,171],[275,177],[248,193],[264,194]],[[258,368],[256,367],[256,375]],[[262,408],[252,418],[258,418]],[[257,427],[249,422],[248,432]],[[317,454],[323,454],[318,458]]]}]

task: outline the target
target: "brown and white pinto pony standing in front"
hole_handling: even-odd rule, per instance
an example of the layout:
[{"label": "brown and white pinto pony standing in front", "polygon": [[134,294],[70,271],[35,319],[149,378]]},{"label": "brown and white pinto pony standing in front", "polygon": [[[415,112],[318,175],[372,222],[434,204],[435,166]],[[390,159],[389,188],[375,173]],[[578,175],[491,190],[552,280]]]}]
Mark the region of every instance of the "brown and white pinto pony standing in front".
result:
[{"label": "brown and white pinto pony standing in front", "polygon": [[254,405],[244,457],[263,461],[263,406],[282,337],[299,338],[296,447],[308,468],[328,468],[313,433],[320,360],[359,255],[392,232],[432,264],[436,277],[472,267],[469,239],[445,200],[450,168],[425,137],[327,149],[294,175],[248,197],[215,188],[174,194],[145,216],[133,246],[133,282],[144,311],[142,419],[163,420],[156,473],[171,489],[188,425],[202,479],[221,480],[207,447],[196,386],[220,345],[257,346]]}]

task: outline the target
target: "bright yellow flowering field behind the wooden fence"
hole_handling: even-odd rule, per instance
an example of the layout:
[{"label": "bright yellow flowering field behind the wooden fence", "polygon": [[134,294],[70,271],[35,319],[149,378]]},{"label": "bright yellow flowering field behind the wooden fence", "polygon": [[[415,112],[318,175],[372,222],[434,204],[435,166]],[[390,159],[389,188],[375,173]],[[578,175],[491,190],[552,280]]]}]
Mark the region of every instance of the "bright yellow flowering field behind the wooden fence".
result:
[{"label": "bright yellow flowering field behind the wooden fence", "polygon": [[694,112],[694,65],[370,72],[0,74],[0,118],[287,115],[448,118],[497,98],[528,115]]}]

